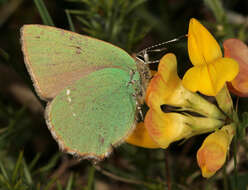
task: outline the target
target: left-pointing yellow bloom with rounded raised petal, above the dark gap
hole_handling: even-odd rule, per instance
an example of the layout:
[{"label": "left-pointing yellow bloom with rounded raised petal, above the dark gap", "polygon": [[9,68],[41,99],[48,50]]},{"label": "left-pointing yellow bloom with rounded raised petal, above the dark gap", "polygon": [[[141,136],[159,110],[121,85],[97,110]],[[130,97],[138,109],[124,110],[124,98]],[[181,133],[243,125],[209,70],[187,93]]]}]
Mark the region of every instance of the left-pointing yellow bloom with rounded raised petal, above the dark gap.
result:
[{"label": "left-pointing yellow bloom with rounded raised petal, above the dark gap", "polygon": [[147,105],[161,111],[161,105],[180,107],[181,111],[193,111],[206,117],[224,118],[216,106],[196,93],[185,89],[177,75],[176,56],[168,53],[162,57],[158,72],[150,81],[146,90]]}]

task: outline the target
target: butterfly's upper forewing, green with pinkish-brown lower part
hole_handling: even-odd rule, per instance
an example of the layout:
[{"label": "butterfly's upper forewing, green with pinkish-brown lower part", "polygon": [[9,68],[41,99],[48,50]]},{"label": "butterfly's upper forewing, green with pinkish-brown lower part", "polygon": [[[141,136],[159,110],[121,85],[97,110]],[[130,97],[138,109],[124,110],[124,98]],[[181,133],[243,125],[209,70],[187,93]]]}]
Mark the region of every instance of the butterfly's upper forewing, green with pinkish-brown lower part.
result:
[{"label": "butterfly's upper forewing, green with pinkish-brown lower part", "polygon": [[21,42],[35,89],[44,100],[51,100],[74,81],[99,69],[136,70],[135,61],[124,50],[54,27],[25,25]]}]

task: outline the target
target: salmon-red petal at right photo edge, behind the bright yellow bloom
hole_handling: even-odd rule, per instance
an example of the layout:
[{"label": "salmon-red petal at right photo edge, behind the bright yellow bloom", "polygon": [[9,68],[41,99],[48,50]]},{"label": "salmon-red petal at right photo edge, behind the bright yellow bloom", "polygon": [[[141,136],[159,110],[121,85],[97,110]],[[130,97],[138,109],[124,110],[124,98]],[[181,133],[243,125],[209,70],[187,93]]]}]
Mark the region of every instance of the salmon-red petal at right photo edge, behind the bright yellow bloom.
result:
[{"label": "salmon-red petal at right photo edge, behind the bright yellow bloom", "polygon": [[241,97],[248,97],[248,47],[238,39],[228,39],[223,43],[225,57],[235,59],[239,64],[239,73],[228,83],[229,90]]}]

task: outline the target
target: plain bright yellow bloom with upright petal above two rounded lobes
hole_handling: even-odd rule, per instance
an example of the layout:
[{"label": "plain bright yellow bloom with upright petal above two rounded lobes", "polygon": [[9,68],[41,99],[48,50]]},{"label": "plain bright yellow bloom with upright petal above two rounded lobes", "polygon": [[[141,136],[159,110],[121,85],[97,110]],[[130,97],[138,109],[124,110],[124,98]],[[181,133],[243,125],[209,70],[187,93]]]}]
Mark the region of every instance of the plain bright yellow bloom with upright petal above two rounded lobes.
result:
[{"label": "plain bright yellow bloom with upright petal above two rounded lobes", "polygon": [[192,92],[215,96],[238,74],[237,62],[223,58],[214,37],[194,18],[189,23],[188,52],[194,67],[185,73],[183,85]]}]

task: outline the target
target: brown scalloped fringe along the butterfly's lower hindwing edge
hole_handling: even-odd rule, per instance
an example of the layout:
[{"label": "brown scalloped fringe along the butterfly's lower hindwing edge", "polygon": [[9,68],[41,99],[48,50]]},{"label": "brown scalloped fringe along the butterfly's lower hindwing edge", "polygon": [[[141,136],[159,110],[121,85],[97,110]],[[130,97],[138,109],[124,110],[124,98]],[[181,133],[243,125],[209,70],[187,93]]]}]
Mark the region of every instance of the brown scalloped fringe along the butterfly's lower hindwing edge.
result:
[{"label": "brown scalloped fringe along the butterfly's lower hindwing edge", "polygon": [[55,141],[59,145],[59,149],[64,153],[71,154],[75,158],[93,160],[94,163],[97,163],[97,162],[102,161],[105,158],[109,157],[111,155],[111,153],[113,152],[113,149],[115,147],[118,147],[119,145],[121,145],[125,141],[125,139],[134,131],[134,129],[136,127],[136,119],[135,118],[136,118],[136,114],[138,113],[137,108],[136,108],[136,112],[134,114],[134,122],[133,122],[132,128],[127,132],[127,134],[125,135],[124,138],[120,139],[115,144],[110,145],[107,152],[105,152],[104,154],[100,154],[100,155],[97,155],[94,153],[88,153],[88,152],[80,152],[78,150],[74,150],[74,149],[71,149],[70,147],[66,146],[65,143],[63,142],[62,138],[58,134],[56,134],[55,130],[53,129],[54,127],[53,127],[53,125],[51,123],[51,119],[50,119],[51,118],[50,117],[51,106],[52,106],[52,102],[48,102],[46,109],[45,109],[45,120],[46,120],[46,124],[48,126],[49,131],[51,132],[53,138],[55,139]]}]

